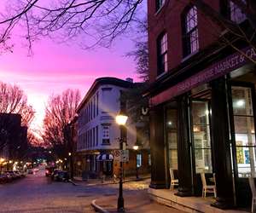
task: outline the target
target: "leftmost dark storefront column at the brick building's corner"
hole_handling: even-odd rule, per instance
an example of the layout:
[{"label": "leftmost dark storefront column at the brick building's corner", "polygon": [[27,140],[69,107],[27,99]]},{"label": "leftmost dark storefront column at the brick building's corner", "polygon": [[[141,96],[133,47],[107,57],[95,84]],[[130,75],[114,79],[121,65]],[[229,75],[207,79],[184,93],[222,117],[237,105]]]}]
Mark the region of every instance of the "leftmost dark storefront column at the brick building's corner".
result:
[{"label": "leftmost dark storefront column at the brick building's corner", "polygon": [[166,188],[164,108],[154,107],[149,112],[151,183],[152,188]]}]

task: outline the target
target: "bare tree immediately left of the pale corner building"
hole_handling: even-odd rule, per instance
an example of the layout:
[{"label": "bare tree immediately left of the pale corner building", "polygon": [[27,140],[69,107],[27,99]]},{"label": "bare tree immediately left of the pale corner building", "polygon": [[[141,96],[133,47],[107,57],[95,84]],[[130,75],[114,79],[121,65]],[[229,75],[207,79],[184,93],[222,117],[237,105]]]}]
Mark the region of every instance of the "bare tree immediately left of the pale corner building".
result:
[{"label": "bare tree immediately left of the pale corner building", "polygon": [[79,90],[67,89],[61,95],[49,97],[45,110],[43,139],[53,147],[55,154],[63,157],[67,154],[67,124],[75,116],[79,106]]}]

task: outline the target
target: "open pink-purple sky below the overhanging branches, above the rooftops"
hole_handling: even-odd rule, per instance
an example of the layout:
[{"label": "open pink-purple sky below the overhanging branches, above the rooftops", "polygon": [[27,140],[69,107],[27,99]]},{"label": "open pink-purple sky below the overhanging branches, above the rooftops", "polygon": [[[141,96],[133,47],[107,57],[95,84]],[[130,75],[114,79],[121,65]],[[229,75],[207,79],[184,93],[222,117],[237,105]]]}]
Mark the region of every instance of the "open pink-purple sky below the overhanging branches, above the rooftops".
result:
[{"label": "open pink-purple sky below the overhanging branches, above the rooftops", "polygon": [[135,65],[125,53],[130,40],[115,43],[111,49],[83,50],[78,45],[57,44],[50,40],[33,44],[33,55],[16,45],[14,53],[0,55],[0,81],[15,83],[26,92],[36,110],[33,128],[42,126],[49,95],[67,88],[80,89],[85,95],[96,78],[111,76],[137,80]]}]

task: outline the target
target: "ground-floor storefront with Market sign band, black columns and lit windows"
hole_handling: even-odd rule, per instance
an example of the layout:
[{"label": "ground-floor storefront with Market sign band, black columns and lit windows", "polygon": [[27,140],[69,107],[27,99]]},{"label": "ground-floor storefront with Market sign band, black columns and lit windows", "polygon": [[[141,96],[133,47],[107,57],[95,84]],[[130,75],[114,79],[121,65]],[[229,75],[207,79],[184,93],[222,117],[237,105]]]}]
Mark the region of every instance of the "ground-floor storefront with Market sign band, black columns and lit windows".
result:
[{"label": "ground-floor storefront with Market sign band, black columns and lit windows", "polygon": [[[256,58],[253,49],[242,51]],[[248,177],[256,177],[256,68],[247,57],[226,52],[186,75],[159,79],[149,89],[150,187],[170,187],[172,168],[178,196],[201,196],[203,172],[216,178],[213,206],[250,204]]]}]

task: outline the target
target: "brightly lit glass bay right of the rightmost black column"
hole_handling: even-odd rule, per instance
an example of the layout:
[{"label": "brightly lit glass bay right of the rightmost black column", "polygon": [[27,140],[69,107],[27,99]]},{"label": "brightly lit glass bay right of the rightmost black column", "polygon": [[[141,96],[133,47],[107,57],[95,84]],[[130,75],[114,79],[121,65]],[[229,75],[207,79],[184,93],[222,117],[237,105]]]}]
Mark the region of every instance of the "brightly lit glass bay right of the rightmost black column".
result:
[{"label": "brightly lit glass bay right of the rightmost black column", "polygon": [[255,177],[255,89],[253,83],[230,83],[230,136],[236,203],[251,202],[248,177]]}]

